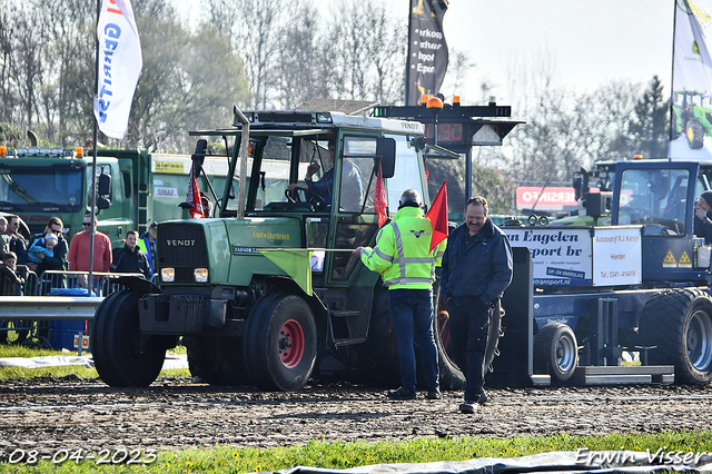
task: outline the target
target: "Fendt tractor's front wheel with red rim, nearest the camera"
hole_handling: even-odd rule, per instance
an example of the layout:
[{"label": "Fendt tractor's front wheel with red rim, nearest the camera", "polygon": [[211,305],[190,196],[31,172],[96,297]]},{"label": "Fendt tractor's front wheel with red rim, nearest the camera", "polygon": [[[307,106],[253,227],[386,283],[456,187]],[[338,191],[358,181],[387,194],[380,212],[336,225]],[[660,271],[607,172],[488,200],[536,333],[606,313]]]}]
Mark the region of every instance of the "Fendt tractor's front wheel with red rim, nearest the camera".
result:
[{"label": "Fendt tractor's front wheel with red rim, nearest the camera", "polygon": [[296,295],[265,297],[245,328],[245,365],[263,389],[300,389],[312,376],[317,333],[309,305]]}]

